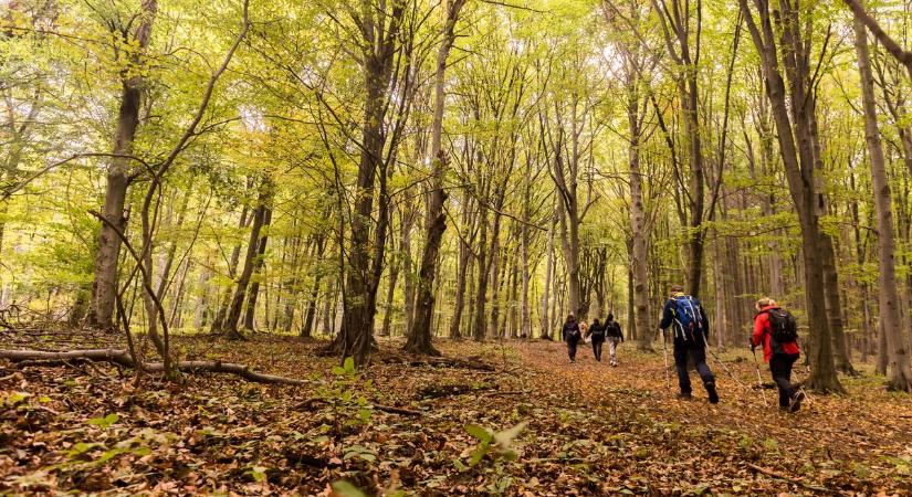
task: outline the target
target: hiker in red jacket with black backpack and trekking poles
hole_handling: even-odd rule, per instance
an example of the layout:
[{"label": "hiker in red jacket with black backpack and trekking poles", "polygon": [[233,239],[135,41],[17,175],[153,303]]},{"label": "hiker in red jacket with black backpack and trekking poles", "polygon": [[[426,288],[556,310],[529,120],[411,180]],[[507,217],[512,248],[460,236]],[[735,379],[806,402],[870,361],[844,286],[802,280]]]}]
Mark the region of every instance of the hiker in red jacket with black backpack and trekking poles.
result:
[{"label": "hiker in red jacket with black backpack and trekking poles", "polygon": [[763,360],[769,363],[769,372],[779,390],[779,409],[796,412],[801,408],[805,392],[792,384],[792,367],[801,353],[795,317],[769,297],[757,300],[756,309],[751,350],[763,346]]}]

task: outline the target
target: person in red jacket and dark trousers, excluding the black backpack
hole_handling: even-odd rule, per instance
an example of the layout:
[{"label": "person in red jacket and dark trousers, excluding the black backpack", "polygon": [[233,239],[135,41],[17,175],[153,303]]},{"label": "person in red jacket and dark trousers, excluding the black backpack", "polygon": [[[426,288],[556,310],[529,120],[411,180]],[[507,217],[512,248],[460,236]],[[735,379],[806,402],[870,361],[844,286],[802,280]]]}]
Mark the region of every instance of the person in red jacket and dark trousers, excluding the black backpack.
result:
[{"label": "person in red jacket and dark trousers, excluding the black backpack", "polygon": [[795,412],[801,408],[801,401],[805,400],[805,392],[792,384],[792,367],[798,360],[801,350],[798,348],[797,340],[779,343],[774,339],[769,313],[780,309],[775,300],[768,297],[761,298],[757,300],[756,308],[751,349],[763,346],[763,359],[769,363],[773,381],[779,389],[779,409]]}]

